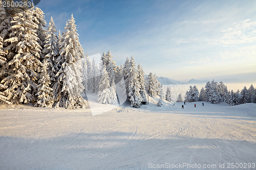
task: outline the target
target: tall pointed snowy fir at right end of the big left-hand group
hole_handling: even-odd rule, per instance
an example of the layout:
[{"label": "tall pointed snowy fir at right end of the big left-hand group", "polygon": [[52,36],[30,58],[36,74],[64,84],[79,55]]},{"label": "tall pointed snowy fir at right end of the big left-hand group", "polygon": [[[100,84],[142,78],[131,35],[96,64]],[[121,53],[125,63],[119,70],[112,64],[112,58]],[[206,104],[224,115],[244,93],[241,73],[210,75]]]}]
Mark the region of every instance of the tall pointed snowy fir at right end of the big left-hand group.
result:
[{"label": "tall pointed snowy fir at right end of the big left-hand group", "polygon": [[57,59],[61,67],[56,74],[56,83],[53,86],[54,96],[57,97],[55,107],[75,109],[86,106],[86,101],[80,95],[84,89],[81,79],[80,50],[81,45],[72,14],[67,21]]}]

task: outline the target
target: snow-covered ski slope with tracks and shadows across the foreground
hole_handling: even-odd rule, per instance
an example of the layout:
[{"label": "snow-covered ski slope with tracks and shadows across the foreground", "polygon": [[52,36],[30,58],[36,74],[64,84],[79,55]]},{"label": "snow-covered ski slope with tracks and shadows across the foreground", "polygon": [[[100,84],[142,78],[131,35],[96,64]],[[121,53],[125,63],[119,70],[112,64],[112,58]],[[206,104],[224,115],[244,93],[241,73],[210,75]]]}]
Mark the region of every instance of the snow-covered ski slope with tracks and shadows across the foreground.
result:
[{"label": "snow-covered ski slope with tracks and shadows across the foreground", "polygon": [[0,169],[227,169],[256,162],[256,104],[156,103],[96,116],[90,109],[0,105]]}]

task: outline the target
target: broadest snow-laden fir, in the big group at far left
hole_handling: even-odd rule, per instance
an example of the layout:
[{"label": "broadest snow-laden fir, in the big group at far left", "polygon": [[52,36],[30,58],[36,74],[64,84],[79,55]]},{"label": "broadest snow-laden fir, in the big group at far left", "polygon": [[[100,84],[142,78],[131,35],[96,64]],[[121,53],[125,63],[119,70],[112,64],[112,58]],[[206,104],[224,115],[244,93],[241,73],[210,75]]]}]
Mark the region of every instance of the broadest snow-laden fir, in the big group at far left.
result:
[{"label": "broadest snow-laden fir, in the big group at far left", "polygon": [[27,104],[32,102],[36,93],[40,67],[41,46],[37,37],[38,25],[35,23],[33,10],[17,13],[12,17],[9,37],[5,40],[8,44],[10,60],[4,65],[8,72],[2,84],[8,86],[5,90],[7,98],[12,103]]}]

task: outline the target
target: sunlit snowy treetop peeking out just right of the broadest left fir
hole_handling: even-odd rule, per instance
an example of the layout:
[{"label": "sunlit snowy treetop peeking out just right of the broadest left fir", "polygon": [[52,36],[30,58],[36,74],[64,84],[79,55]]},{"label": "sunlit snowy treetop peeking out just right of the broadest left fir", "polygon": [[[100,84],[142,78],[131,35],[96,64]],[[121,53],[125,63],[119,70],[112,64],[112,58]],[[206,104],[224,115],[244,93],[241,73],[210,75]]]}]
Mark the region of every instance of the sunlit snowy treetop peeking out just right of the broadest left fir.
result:
[{"label": "sunlit snowy treetop peeking out just right of the broadest left fir", "polygon": [[45,41],[46,41],[46,30],[44,29],[46,27],[46,21],[44,12],[40,8],[33,8],[33,22],[37,24],[38,29],[36,30],[36,34],[38,39],[38,42],[42,48],[44,48]]}]

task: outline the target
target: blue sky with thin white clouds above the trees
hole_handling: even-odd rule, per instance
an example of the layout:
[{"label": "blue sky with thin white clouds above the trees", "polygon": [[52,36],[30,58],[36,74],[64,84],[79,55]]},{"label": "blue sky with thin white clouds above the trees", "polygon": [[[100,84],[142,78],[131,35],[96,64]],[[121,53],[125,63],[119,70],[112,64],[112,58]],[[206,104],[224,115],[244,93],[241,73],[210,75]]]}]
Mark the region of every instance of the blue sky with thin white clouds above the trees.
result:
[{"label": "blue sky with thin white clouds above the trees", "polygon": [[[73,13],[84,53],[135,57],[145,74],[179,81],[254,72],[256,1],[63,1],[37,5],[63,30]],[[253,74],[252,74],[253,75]]]}]

